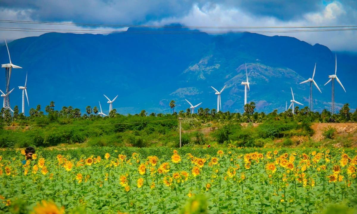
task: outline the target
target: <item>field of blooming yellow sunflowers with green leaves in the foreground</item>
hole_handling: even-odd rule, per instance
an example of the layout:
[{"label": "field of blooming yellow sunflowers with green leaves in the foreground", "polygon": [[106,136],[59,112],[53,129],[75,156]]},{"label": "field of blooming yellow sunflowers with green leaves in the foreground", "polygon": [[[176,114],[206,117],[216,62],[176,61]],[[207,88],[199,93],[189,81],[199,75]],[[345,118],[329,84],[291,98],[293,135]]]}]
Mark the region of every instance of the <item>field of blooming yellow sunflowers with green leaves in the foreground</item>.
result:
[{"label": "field of blooming yellow sunflowers with green leaves in the foreground", "polygon": [[353,149],[37,149],[25,165],[24,151],[0,154],[0,213],[299,214],[357,197]]}]

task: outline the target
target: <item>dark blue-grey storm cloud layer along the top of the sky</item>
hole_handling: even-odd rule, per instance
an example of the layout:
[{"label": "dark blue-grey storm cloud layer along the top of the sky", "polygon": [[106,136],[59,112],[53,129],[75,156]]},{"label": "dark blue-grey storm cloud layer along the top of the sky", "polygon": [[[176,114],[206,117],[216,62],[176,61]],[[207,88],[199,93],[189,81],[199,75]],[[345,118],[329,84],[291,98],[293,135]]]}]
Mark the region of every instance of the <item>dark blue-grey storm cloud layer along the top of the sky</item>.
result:
[{"label": "dark blue-grey storm cloud layer along the top of the sky", "polygon": [[[239,7],[256,16],[268,15],[286,21],[323,7],[321,0],[2,0],[0,7],[30,10],[29,15],[34,20],[131,24],[168,16],[182,16],[193,4],[201,7],[207,3]],[[350,4],[352,5],[352,2]]]}]

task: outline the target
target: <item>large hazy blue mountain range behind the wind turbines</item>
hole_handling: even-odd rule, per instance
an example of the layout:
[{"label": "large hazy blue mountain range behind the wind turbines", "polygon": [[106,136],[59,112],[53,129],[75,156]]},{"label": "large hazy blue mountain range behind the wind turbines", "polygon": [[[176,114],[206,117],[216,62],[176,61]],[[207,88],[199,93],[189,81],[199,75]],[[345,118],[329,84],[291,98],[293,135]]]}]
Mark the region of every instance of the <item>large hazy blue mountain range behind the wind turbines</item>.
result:
[{"label": "large hazy blue mountain range behind the wind turbines", "polygon": [[[21,106],[22,91],[17,86],[25,83],[30,107],[40,104],[44,110],[50,101],[55,109],[73,106],[85,111],[86,106],[99,106],[108,113],[110,99],[118,113],[175,111],[193,105],[216,108],[217,95],[211,86],[222,92],[222,111],[243,112],[245,63],[250,91],[248,102],[256,103],[257,111],[285,111],[290,105],[292,87],[295,100],[308,106],[310,85],[299,83],[312,77],[316,63],[315,81],[322,93],[313,88],[316,111],[331,106],[331,83],[328,75],[335,72],[346,88],[336,82],[337,108],[350,103],[357,107],[357,54],[332,52],[328,47],[300,41],[288,36],[266,36],[253,33],[209,35],[158,34],[155,31],[186,29],[129,28],[119,34],[46,33],[10,42],[12,63],[23,67],[13,69],[10,81],[11,106]],[[140,33],[152,31],[152,33]],[[0,46],[0,63],[8,63],[5,45]],[[5,73],[5,69],[2,68]],[[5,75],[0,76],[5,82]],[[5,85],[5,84],[4,84]],[[5,89],[0,86],[1,90]],[[301,106],[303,107],[303,106]],[[21,109],[21,108],[20,108]]]}]

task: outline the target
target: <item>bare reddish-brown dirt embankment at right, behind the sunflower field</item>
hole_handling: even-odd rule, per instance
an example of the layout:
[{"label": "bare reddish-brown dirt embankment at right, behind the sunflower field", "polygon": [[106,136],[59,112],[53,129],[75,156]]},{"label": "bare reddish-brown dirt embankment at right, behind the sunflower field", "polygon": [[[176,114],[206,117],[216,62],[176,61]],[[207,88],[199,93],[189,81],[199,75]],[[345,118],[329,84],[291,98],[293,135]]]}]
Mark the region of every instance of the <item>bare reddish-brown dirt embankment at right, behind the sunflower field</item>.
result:
[{"label": "bare reddish-brown dirt embankment at right, behind the sunflower field", "polygon": [[311,128],[313,128],[315,134],[312,136],[312,138],[315,141],[321,141],[324,138],[322,133],[329,126],[336,129],[337,135],[357,133],[357,123],[313,123]]}]

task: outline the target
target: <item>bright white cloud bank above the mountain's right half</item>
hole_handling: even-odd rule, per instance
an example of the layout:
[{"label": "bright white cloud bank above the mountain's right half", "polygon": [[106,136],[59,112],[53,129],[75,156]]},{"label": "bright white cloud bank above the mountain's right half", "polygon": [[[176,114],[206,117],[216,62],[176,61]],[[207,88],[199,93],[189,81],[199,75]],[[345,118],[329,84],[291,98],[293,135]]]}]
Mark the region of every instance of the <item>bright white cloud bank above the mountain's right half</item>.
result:
[{"label": "bright white cloud bank above the mountain's right half", "polygon": [[[351,9],[350,9],[351,11]],[[348,21],[347,15],[356,16],[353,10],[346,12],[343,5],[337,1],[327,4],[322,11],[308,13],[299,20],[282,21],[270,16],[255,16],[239,8],[228,8],[220,4],[198,7],[193,5],[190,12],[182,17],[170,17],[154,22],[163,25],[181,23],[186,26],[241,26],[241,27],[293,27],[293,26],[341,26],[357,25],[356,19]],[[235,29],[236,31],[237,29]],[[208,29],[205,29],[208,31]],[[211,29],[212,31],[212,29]],[[226,31],[226,29],[214,29],[214,31]],[[255,30],[250,30],[255,31]],[[310,44],[322,44],[334,51],[357,51],[357,31],[323,31],[323,32],[291,32],[269,33],[268,36],[284,35],[293,36]]]}]

